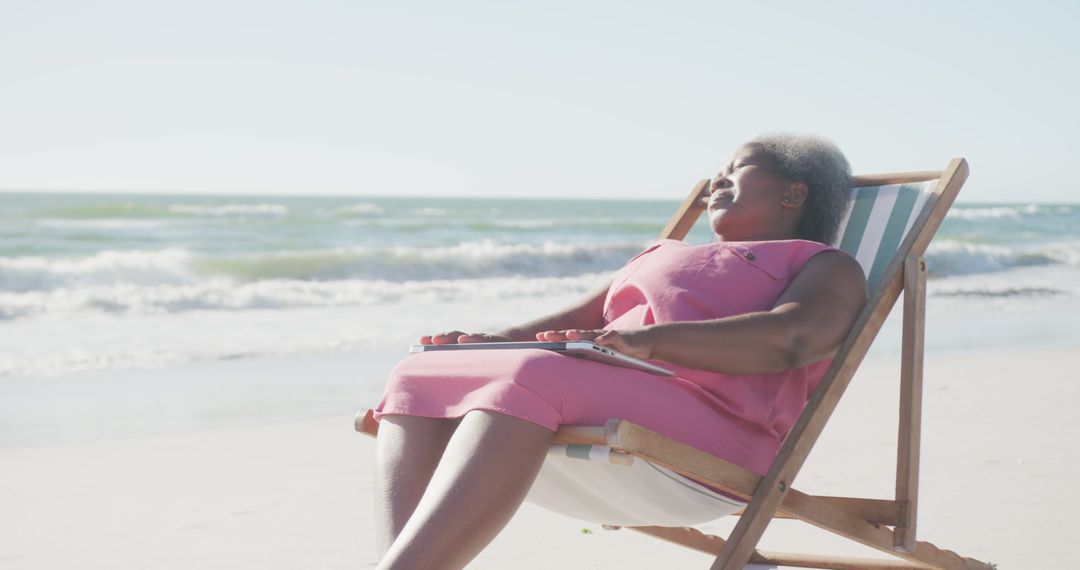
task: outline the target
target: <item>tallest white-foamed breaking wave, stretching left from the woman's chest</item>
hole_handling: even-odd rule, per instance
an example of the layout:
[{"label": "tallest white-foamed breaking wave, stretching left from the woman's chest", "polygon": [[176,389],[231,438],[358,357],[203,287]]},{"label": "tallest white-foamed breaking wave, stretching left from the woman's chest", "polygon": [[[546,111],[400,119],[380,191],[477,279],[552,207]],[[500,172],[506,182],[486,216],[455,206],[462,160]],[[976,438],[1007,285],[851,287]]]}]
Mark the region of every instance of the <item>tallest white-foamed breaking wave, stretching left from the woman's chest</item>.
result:
[{"label": "tallest white-foamed breaking wave, stretching left from the woman's chest", "polygon": [[433,281],[558,277],[618,269],[639,244],[579,246],[467,242],[445,247],[350,247],[258,255],[203,256],[184,248],[106,250],[78,259],[0,258],[0,291],[131,285],[198,285],[210,280]]}]

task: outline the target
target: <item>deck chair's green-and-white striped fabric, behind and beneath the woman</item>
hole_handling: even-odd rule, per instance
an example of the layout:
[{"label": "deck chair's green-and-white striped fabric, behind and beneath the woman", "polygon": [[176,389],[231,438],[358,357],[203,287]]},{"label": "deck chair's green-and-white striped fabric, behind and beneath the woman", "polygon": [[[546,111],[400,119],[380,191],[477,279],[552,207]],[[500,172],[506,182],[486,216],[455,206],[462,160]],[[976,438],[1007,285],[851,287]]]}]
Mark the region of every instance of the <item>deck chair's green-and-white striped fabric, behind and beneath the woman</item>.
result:
[{"label": "deck chair's green-and-white striped fabric, behind and beneath the woman", "polygon": [[[936,180],[855,188],[833,245],[880,285]],[[674,471],[607,446],[553,445],[526,499],[575,518],[618,526],[692,526],[730,515],[745,502]]]}]

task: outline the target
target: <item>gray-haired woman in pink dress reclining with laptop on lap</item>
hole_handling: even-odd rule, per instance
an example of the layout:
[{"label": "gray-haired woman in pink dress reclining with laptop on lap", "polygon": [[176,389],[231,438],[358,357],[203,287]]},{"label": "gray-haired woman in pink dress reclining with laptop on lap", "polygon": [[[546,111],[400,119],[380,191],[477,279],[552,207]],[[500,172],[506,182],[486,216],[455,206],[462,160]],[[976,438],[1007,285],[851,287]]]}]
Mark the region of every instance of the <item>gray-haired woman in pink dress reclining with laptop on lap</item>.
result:
[{"label": "gray-haired woman in pink dress reclining with laptop on lap", "polygon": [[579,304],[422,343],[593,340],[660,377],[541,350],[430,352],[376,408],[380,569],[462,568],[517,511],[559,424],[622,418],[764,474],[866,301],[829,247],[850,189],[823,139],[739,147],[712,180],[717,242],[661,240]]}]

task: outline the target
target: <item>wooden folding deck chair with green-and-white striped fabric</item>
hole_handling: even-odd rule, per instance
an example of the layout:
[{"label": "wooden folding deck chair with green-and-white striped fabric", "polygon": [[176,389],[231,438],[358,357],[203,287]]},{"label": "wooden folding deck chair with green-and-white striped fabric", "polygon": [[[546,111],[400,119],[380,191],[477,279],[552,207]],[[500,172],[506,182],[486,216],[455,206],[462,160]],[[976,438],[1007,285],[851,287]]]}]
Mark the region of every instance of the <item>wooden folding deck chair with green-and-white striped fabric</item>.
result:
[{"label": "wooden folding deck chair with green-and-white striped fabric", "polygon": [[[527,500],[550,507],[545,502],[552,501],[553,492],[572,494],[571,489],[589,486],[618,494],[613,489],[625,479],[631,491],[618,501],[642,503],[644,494],[650,504],[623,510],[615,501],[611,514],[604,516],[607,520],[592,521],[608,529],[624,526],[716,555],[712,570],[737,570],[747,564],[823,569],[994,568],[916,541],[927,280],[922,255],[967,177],[963,159],[954,159],[944,171],[855,177],[834,245],[863,267],[869,301],[765,476],[632,422],[611,419],[604,426],[561,426]],[[698,182],[660,238],[686,236],[704,211],[707,185],[708,180]],[[823,497],[795,490],[795,476],[901,290],[905,293],[895,498]],[[378,424],[372,410],[356,416],[355,429],[376,435]],[[552,510],[575,516],[572,504]],[[690,527],[728,514],[740,520],[727,540]],[[757,551],[773,518],[797,518],[902,560]]]}]

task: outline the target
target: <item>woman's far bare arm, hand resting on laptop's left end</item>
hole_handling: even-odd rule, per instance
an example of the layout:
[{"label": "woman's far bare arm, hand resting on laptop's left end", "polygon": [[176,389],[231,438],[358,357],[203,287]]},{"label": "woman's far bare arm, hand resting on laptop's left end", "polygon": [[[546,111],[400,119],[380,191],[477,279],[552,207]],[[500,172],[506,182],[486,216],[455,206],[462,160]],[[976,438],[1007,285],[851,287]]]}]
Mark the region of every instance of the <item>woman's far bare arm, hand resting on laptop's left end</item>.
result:
[{"label": "woman's far bare arm, hand resting on laptop's left end", "polygon": [[526,341],[537,340],[537,332],[543,330],[600,328],[604,326],[604,300],[607,298],[610,287],[611,282],[608,281],[604,286],[586,295],[577,304],[522,325],[504,328],[491,335],[470,335],[460,330],[449,330],[438,335],[420,337],[420,343],[450,344],[454,342]]}]

